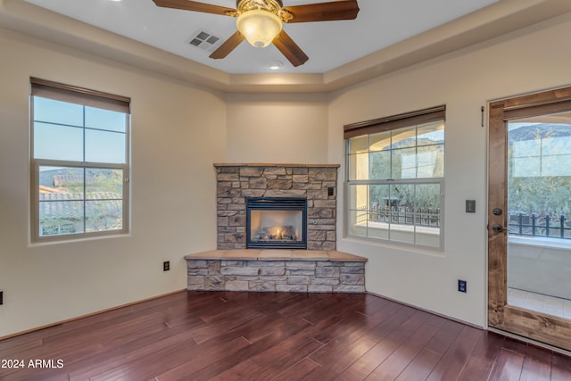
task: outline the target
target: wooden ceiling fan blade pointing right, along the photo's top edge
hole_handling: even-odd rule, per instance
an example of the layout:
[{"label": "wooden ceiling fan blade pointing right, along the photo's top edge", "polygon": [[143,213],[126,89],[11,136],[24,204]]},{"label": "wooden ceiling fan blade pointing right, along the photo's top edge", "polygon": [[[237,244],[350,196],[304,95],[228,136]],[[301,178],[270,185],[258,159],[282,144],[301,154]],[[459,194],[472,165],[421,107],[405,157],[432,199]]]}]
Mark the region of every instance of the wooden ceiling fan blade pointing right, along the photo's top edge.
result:
[{"label": "wooden ceiling fan blade pointing right, along the photo's top edge", "polygon": [[282,10],[293,15],[291,20],[286,21],[288,23],[353,20],[357,18],[357,13],[359,13],[359,5],[357,0],[339,0],[328,3],[285,6]]}]

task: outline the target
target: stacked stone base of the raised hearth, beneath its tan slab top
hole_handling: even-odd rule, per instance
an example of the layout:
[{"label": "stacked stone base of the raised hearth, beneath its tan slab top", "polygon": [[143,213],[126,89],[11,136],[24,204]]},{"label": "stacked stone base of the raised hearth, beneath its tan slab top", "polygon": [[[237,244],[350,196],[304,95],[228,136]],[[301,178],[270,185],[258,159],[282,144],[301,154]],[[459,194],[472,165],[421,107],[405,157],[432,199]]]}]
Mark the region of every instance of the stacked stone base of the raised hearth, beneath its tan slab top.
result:
[{"label": "stacked stone base of the raised hearth, beneath its tan slab top", "polygon": [[[214,253],[212,255],[211,253]],[[365,258],[298,257],[269,259],[241,255],[219,258],[219,251],[187,255],[188,290],[298,293],[364,293]],[[329,252],[332,253],[332,252]],[[339,254],[338,252],[335,252]],[[224,255],[223,255],[224,257]]]}]

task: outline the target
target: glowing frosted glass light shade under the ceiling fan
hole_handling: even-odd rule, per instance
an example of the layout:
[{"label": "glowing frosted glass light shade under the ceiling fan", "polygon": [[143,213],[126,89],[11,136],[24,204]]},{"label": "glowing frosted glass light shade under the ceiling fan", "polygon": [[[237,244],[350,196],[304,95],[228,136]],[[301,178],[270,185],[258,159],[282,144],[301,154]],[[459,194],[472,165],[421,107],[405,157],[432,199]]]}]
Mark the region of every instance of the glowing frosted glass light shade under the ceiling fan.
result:
[{"label": "glowing frosted glass light shade under the ceiling fan", "polygon": [[282,21],[276,14],[261,9],[244,12],[236,20],[238,30],[255,47],[266,47],[282,31]]}]

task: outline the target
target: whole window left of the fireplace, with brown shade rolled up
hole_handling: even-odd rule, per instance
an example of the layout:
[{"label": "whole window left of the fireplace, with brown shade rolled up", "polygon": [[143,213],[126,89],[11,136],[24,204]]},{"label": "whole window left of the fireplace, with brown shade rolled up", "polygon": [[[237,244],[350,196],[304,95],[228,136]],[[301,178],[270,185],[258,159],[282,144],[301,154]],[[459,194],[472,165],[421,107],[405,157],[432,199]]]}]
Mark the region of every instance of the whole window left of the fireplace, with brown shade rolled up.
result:
[{"label": "whole window left of the fireplace, with brown shade rolled up", "polygon": [[128,232],[128,98],[31,82],[32,240]]}]

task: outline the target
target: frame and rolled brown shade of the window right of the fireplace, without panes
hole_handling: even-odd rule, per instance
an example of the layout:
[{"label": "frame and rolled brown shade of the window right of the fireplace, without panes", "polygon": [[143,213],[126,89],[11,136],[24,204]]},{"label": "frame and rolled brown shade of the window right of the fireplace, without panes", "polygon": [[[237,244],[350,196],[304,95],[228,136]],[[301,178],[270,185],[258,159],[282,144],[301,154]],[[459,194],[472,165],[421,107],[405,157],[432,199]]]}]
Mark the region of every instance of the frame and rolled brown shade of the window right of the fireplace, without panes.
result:
[{"label": "frame and rolled brown shade of the window right of the fireplace, without panes", "polygon": [[[375,178],[375,179],[352,179],[352,154],[350,147],[350,139],[352,137],[370,137],[379,132],[398,131],[399,129],[418,127],[435,121],[446,123],[446,106],[440,105],[415,112],[406,112],[389,117],[379,118],[376,120],[366,120],[343,126],[343,162],[344,162],[344,197],[343,197],[343,236],[360,241],[377,243],[377,244],[395,244],[399,246],[409,246],[430,251],[442,253],[444,250],[444,189],[445,189],[445,166],[443,168],[442,178]],[[370,142],[369,142],[370,143]],[[418,145],[415,145],[418,149]],[[445,150],[445,138],[443,141],[443,149]],[[369,152],[370,154],[370,152]],[[445,155],[444,155],[445,157]],[[443,163],[444,164],[444,163]],[[355,211],[351,207],[352,203],[352,186],[398,186],[398,185],[431,185],[437,184],[440,187],[440,213],[439,213],[439,244],[437,246],[430,244],[422,244],[417,242],[404,242],[401,240],[390,239],[390,229],[387,229],[388,238],[374,236],[360,236],[352,233],[352,212]],[[369,195],[367,195],[369,197]],[[413,225],[417,227],[417,225]],[[368,226],[367,226],[368,229]],[[415,229],[414,241],[416,241],[417,231]]]}]

